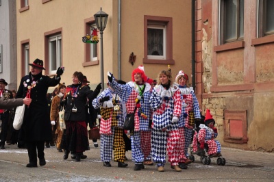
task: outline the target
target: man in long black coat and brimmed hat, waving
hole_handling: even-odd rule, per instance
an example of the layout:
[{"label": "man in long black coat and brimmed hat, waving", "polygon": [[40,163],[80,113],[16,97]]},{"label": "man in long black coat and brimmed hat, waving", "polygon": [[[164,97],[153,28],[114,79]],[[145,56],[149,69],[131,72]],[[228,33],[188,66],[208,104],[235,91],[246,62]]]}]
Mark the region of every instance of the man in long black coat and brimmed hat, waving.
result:
[{"label": "man in long black coat and brimmed hat, waving", "polygon": [[[29,155],[28,168],[37,167],[37,157],[40,166],[45,166],[45,141],[51,140],[51,121],[47,108],[47,90],[60,83],[60,76],[64,68],[58,68],[53,78],[42,75],[43,61],[36,59],[32,64],[31,72],[21,79],[16,98],[32,99],[32,103],[25,107],[25,114],[19,140],[27,144]],[[36,152],[37,149],[37,152]]]}]

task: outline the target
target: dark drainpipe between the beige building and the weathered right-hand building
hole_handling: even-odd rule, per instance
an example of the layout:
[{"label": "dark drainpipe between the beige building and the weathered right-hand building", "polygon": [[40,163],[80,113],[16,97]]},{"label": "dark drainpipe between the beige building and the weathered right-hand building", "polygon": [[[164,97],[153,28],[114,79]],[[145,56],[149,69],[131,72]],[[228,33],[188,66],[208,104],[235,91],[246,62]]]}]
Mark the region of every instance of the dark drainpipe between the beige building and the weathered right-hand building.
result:
[{"label": "dark drainpipe between the beige building and the weathered right-hand building", "polygon": [[191,83],[195,91],[195,0],[191,1]]}]

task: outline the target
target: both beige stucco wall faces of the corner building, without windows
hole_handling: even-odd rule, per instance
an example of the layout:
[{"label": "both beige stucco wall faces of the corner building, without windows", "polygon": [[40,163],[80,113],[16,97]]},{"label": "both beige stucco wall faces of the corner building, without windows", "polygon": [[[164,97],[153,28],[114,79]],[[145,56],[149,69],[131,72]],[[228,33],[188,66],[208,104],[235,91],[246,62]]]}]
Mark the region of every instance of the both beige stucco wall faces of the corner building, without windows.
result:
[{"label": "both beige stucco wall faces of the corner building, without windows", "polygon": [[[173,77],[179,70],[191,75],[191,1],[153,0],[121,1],[121,79],[130,81],[134,68],[142,64],[144,57],[144,15],[166,16],[173,18]],[[16,8],[20,3],[16,1]],[[108,25],[103,31],[104,81],[108,81],[107,72],[118,77],[118,0],[102,0],[96,3],[82,0],[30,1],[29,10],[18,12],[17,55],[21,55],[22,40],[29,39],[30,62],[36,57],[45,60],[44,33],[62,27],[62,65],[65,73],[62,81],[71,83],[75,70],[82,71],[88,77],[90,85],[95,87],[100,82],[100,65],[82,66],[84,62],[84,19],[103,8],[109,14]],[[182,11],[184,10],[184,11]],[[99,42],[100,44],[100,42]],[[100,46],[99,46],[100,51]],[[134,52],[136,63],[128,62],[129,54]],[[100,52],[98,53],[100,55]],[[99,58],[100,60],[100,58]],[[21,60],[18,59],[18,66]],[[143,64],[148,77],[155,78],[160,70],[167,69],[167,64]],[[21,75],[18,74],[18,79]]]}]

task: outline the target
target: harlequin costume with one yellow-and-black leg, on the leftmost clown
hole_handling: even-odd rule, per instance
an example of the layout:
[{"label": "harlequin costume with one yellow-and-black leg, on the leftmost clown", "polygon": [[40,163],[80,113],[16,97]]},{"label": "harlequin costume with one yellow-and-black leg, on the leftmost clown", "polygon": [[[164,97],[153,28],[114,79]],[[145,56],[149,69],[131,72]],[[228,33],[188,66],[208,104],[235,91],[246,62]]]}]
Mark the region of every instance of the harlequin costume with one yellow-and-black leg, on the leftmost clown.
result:
[{"label": "harlequin costume with one yellow-and-black leg, on the leftmost clown", "polygon": [[[108,101],[101,99],[109,96]],[[114,149],[114,161],[119,162],[119,167],[126,167],[125,161],[125,142],[123,140],[123,123],[125,104],[118,94],[110,88],[106,88],[96,99],[92,101],[95,109],[100,108],[101,122],[101,161],[104,166],[111,166],[112,148]]]}]

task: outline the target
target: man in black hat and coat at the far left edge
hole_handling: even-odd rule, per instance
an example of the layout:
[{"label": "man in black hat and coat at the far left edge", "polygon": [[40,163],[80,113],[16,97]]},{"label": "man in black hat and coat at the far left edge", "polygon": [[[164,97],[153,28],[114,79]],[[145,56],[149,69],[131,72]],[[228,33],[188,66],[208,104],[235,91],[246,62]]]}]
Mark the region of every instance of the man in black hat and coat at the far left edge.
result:
[{"label": "man in black hat and coat at the far left edge", "polygon": [[[13,99],[12,91],[5,89],[5,86],[8,86],[8,83],[5,79],[0,79],[0,97],[5,99]],[[9,131],[8,122],[10,119],[10,110],[0,109],[0,119],[2,120],[0,148],[5,149],[5,140],[7,140],[7,134]]]}]

